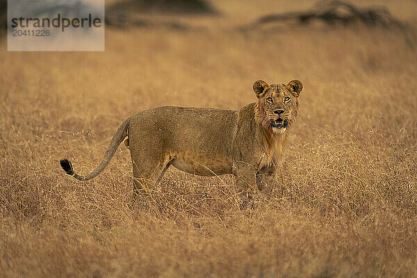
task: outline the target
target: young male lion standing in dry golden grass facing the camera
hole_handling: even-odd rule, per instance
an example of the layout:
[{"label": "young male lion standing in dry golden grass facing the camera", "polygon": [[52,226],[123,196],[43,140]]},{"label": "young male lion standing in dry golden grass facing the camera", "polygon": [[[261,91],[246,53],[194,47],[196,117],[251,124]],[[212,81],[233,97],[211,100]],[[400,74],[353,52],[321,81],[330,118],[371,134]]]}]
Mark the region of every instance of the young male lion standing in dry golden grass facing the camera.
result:
[{"label": "young male lion standing in dry golden grass facing the camera", "polygon": [[256,188],[274,183],[302,88],[298,80],[272,85],[258,80],[253,85],[257,101],[239,111],[174,106],[141,111],[122,123],[90,174],[76,174],[67,159],[60,165],[75,179],[92,179],[106,168],[127,137],[124,144],[133,165],[133,200],[152,191],[172,165],[201,176],[233,174],[245,202]]}]

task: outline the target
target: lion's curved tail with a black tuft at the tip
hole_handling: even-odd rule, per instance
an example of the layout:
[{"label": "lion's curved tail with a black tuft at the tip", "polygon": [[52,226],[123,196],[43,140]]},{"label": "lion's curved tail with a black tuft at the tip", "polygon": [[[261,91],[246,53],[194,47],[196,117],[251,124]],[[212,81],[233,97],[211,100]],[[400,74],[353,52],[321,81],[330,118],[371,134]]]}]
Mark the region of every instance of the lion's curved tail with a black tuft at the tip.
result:
[{"label": "lion's curved tail with a black tuft at the tip", "polygon": [[119,147],[123,139],[126,138],[130,120],[131,119],[129,117],[122,123],[122,125],[120,125],[119,129],[117,129],[116,134],[111,139],[110,145],[108,145],[106,154],[104,154],[104,158],[101,160],[100,164],[95,168],[95,170],[92,171],[90,174],[86,176],[80,176],[79,174],[76,174],[74,172],[74,169],[72,168],[72,163],[67,159],[63,159],[60,161],[60,165],[61,167],[63,167],[63,170],[70,176],[80,181],[88,181],[89,179],[96,177],[107,167],[111,158],[115,154],[117,147]]}]

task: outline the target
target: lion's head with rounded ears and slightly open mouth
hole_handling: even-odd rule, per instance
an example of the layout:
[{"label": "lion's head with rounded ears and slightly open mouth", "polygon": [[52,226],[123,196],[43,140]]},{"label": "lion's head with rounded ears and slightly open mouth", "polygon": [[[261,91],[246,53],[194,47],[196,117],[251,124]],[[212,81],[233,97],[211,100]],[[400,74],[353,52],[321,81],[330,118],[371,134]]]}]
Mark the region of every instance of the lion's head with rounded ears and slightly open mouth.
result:
[{"label": "lion's head with rounded ears and slightly open mouth", "polygon": [[256,103],[256,120],[265,129],[275,133],[284,133],[295,120],[298,113],[298,97],[302,83],[293,80],[288,85],[272,84],[265,81],[254,83],[254,92],[258,97]]}]

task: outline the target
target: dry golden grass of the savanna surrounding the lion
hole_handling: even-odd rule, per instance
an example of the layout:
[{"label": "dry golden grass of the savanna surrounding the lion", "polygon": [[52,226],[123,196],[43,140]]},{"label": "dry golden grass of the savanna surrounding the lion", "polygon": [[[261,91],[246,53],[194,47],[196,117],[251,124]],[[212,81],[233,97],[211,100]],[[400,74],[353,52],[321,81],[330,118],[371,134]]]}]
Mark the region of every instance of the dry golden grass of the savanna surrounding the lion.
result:
[{"label": "dry golden grass of the savanna surrounding the lion", "polygon": [[[201,30],[107,28],[106,51],[0,45],[0,277],[417,277],[414,33],[233,26],[310,1],[213,1]],[[359,3],[359,1],[357,1]],[[375,3],[361,1],[361,4]],[[415,27],[416,1],[380,1]],[[170,168],[149,210],[131,210],[129,115],[155,106],[238,109],[252,83],[300,79],[300,115],[279,183],[240,211],[231,177]]]}]

